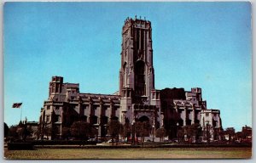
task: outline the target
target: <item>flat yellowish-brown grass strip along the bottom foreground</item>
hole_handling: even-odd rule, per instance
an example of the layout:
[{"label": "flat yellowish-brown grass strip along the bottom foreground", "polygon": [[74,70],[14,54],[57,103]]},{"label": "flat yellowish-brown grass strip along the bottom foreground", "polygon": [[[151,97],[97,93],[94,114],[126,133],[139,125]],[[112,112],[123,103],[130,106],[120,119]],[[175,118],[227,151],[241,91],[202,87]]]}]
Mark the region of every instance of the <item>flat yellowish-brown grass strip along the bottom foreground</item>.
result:
[{"label": "flat yellowish-brown grass strip along the bottom foreground", "polygon": [[250,159],[251,148],[4,149],[6,159]]}]

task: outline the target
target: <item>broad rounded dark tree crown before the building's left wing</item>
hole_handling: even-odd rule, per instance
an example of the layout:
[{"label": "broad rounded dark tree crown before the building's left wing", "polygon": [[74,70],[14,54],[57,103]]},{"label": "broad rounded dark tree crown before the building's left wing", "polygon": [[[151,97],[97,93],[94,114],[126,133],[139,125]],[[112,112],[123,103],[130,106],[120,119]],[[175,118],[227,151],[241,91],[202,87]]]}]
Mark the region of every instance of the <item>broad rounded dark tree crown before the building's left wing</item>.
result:
[{"label": "broad rounded dark tree crown before the building's left wing", "polygon": [[95,130],[90,123],[85,121],[74,121],[73,125],[70,128],[71,135],[80,140],[88,140],[89,137],[95,136]]}]

